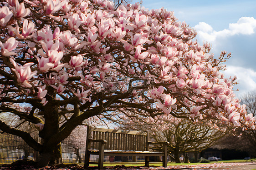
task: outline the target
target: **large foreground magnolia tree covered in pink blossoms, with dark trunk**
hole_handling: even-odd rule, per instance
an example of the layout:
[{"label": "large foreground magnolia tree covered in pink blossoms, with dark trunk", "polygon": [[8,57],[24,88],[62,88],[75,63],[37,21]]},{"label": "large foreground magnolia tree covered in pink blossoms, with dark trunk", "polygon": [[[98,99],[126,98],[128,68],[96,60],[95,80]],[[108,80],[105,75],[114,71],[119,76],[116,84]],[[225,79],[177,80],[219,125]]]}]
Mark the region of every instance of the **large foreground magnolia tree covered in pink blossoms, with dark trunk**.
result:
[{"label": "large foreground magnolia tree covered in pink blossoms, with dark trunk", "polygon": [[126,108],[254,128],[220,72],[225,52],[213,59],[173,14],[108,0],[1,2],[0,112],[38,126],[42,140],[4,120],[0,130],[40,151],[44,166],[61,162],[60,142],[84,120]]}]

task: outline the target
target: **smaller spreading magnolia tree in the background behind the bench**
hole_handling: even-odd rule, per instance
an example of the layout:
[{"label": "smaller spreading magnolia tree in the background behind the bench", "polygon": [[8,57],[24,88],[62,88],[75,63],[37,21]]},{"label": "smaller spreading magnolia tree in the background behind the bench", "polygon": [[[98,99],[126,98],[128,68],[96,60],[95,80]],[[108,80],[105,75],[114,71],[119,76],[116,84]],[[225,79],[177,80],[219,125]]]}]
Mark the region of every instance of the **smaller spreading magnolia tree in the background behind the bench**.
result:
[{"label": "smaller spreading magnolia tree in the background behind the bench", "polygon": [[[123,120],[118,124],[119,127],[148,131],[156,142],[168,141],[169,155],[174,155],[175,163],[180,163],[179,153],[197,153],[205,150],[226,134],[225,128],[220,129],[212,124],[203,125],[191,120],[175,118],[172,115],[159,115],[154,118],[122,116],[122,118]],[[154,149],[161,150],[161,148]]]}]

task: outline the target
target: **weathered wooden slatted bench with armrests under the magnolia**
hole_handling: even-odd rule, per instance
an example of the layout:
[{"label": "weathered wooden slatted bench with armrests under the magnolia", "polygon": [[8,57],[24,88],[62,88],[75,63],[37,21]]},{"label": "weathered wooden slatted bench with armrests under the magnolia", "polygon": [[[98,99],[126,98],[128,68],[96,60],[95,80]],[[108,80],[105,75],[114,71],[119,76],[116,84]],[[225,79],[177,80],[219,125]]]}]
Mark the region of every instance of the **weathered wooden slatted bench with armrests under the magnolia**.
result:
[{"label": "weathered wooden slatted bench with armrests under the magnolia", "polygon": [[[87,126],[87,140],[84,166],[98,164],[103,168],[104,156],[163,156],[163,167],[167,167],[167,145],[169,142],[150,142],[148,132],[103,129]],[[149,145],[163,145],[162,152],[150,152]],[[98,162],[90,162],[90,155],[99,155]]]}]

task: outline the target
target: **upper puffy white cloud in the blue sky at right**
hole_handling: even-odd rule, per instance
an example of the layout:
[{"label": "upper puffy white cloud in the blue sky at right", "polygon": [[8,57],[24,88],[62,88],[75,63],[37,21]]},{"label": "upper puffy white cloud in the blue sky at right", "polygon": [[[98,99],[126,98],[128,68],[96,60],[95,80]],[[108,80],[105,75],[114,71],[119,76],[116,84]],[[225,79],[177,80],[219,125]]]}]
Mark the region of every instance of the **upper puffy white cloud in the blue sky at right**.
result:
[{"label": "upper puffy white cloud in the blue sky at right", "polygon": [[211,25],[200,22],[198,25],[195,25],[195,29],[197,30],[197,38],[201,42],[207,40],[214,44],[218,39],[223,39],[228,36],[254,34],[256,19],[253,17],[241,17],[236,23],[230,23],[228,29],[220,31],[215,31]]}]

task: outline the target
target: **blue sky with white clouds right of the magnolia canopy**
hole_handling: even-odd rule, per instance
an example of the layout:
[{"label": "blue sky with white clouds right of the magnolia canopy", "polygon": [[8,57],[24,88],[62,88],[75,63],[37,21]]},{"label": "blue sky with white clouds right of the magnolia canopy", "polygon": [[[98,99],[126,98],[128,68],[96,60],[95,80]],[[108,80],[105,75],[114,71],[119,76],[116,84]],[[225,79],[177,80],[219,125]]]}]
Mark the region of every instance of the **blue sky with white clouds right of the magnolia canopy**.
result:
[{"label": "blue sky with white clouds right of the magnolia canopy", "polygon": [[200,44],[210,42],[216,57],[221,50],[231,52],[225,77],[238,77],[238,97],[256,89],[256,0],[143,0],[142,5],[174,11],[197,30]]}]

